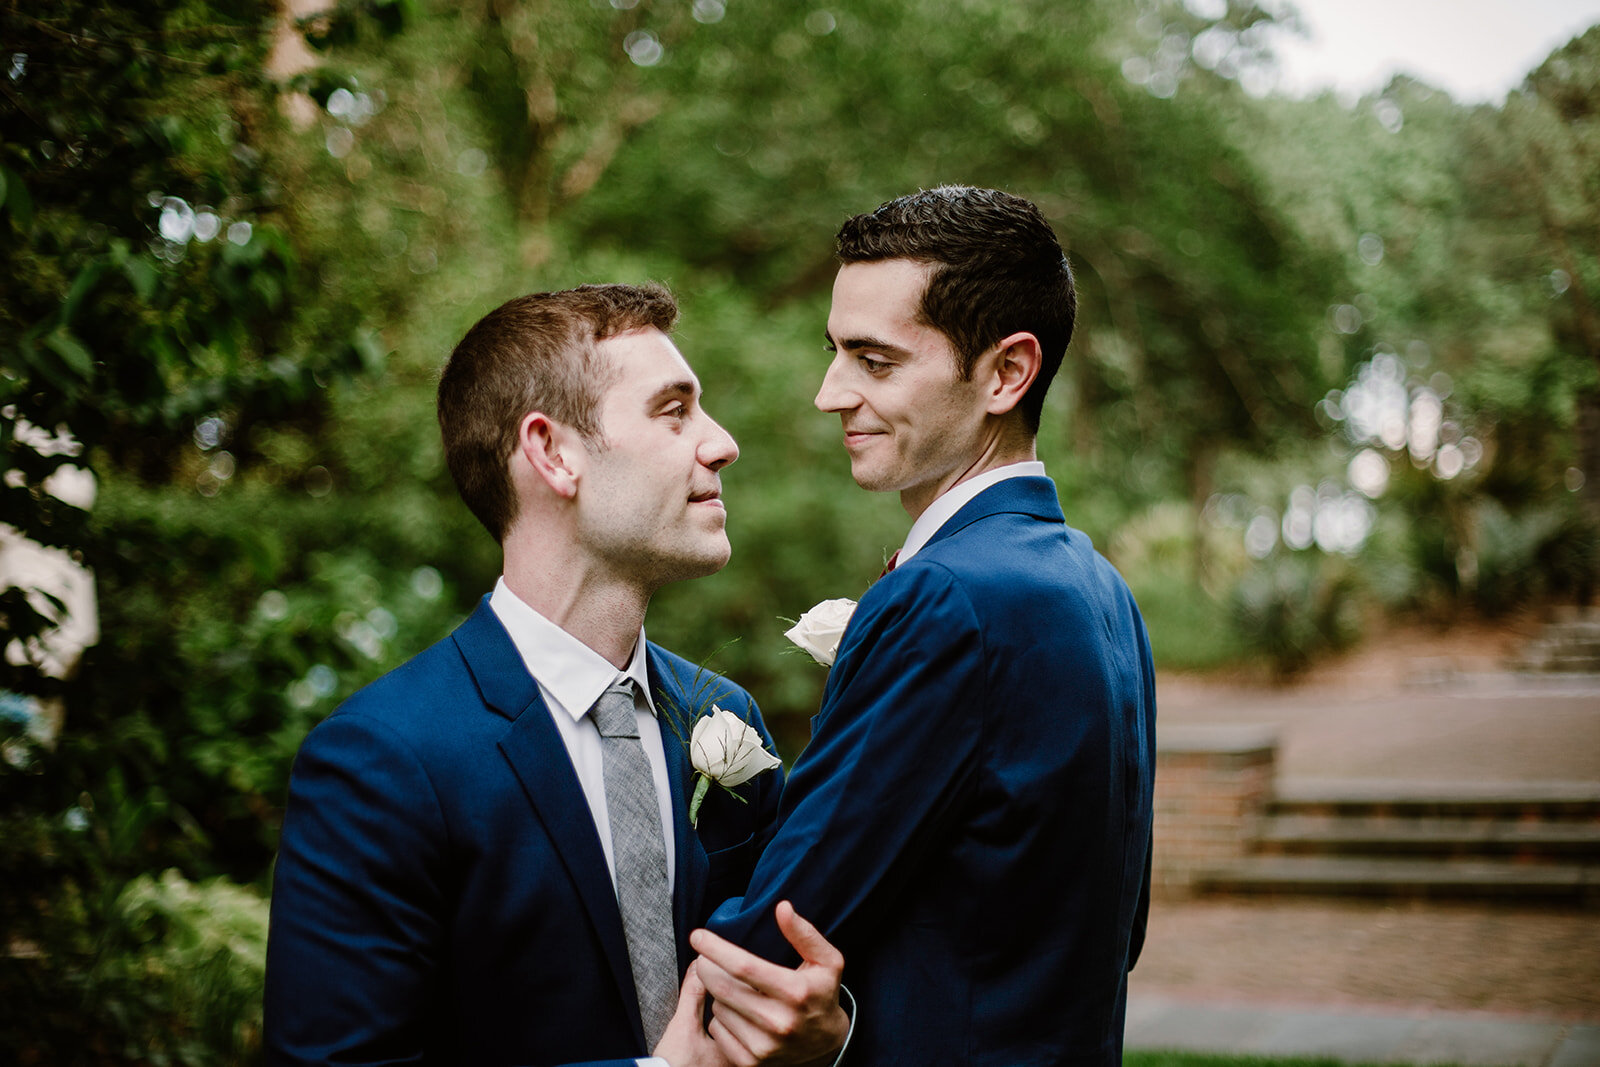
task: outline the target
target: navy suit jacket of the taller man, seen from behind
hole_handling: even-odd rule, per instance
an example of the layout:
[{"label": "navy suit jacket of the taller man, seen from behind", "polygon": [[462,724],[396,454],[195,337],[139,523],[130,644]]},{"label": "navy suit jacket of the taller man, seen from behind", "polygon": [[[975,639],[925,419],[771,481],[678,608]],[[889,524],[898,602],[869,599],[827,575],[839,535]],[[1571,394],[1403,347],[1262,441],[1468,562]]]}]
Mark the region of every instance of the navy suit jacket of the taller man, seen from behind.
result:
[{"label": "navy suit jacket of the taller man, seen from behind", "polygon": [[850,1064],[1122,1061],[1149,907],[1155,675],[1050,478],[979,493],[861,598],[741,902],[845,953]]}]

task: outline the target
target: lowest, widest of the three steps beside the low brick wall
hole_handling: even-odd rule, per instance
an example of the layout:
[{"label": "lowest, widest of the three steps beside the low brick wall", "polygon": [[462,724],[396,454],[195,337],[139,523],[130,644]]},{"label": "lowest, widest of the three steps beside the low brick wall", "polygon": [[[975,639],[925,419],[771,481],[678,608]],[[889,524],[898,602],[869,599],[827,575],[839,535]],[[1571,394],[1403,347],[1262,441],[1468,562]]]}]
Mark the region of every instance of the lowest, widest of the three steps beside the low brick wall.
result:
[{"label": "lowest, widest of the three steps beside the low brick wall", "polygon": [[1600,907],[1600,864],[1248,856],[1200,872],[1203,893],[1472,899]]}]

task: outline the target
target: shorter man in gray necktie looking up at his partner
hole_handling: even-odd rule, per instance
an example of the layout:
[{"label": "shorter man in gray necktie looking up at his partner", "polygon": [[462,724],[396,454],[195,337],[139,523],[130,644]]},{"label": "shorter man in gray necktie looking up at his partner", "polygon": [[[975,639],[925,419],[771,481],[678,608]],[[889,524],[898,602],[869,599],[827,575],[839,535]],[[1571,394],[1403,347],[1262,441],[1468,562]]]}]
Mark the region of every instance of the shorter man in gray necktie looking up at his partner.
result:
[{"label": "shorter man in gray necktie looking up at his partner", "polygon": [[738,446],[701,408],[675,318],[658,286],[538,293],[451,355],[445,456],[504,574],[301,747],[269,1062],[742,1065],[843,1040],[842,958],[787,905],[803,963],[718,947],[755,981],[702,1027],[688,934],[742,891],[782,771],[712,790],[691,825],[688,720],[715,701],[771,741],[747,693],[643,633],[656,589],[730,553],[718,475]]}]

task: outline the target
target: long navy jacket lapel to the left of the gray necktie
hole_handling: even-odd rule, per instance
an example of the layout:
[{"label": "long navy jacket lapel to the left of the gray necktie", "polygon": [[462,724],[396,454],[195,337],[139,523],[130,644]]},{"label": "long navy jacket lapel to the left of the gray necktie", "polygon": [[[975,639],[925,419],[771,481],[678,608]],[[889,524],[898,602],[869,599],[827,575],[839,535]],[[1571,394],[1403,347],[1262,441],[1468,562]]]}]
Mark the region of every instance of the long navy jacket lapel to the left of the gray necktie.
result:
[{"label": "long navy jacket lapel to the left of the gray necktie", "polygon": [[490,608],[488,597],[453,637],[478,683],[483,702],[510,720],[510,728],[499,741],[501,753],[522,782],[523,793],[578,888],[578,896],[605,950],[618,993],[622,1003],[632,1008],[629,1021],[638,1046],[643,1048],[645,1030],[638,1021],[638,995],[634,992],[634,971],[627,961],[616,886],[611,883],[605,851],[595,833],[589,801],[578,784],[566,745],[550,721],[550,709],[522,656],[517,654],[506,627]]}]

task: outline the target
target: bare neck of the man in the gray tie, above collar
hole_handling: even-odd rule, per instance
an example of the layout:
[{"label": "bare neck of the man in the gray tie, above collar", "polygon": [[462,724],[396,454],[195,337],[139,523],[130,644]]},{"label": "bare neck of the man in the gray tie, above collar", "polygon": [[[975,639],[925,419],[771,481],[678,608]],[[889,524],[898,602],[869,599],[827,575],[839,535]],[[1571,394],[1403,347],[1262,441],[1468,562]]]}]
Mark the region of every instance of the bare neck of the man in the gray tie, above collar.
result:
[{"label": "bare neck of the man in the gray tie, above collar", "polygon": [[507,589],[618,670],[627,667],[645,625],[650,590],[602,573],[592,560],[552,550],[550,542],[533,552],[515,531],[504,549]]}]

